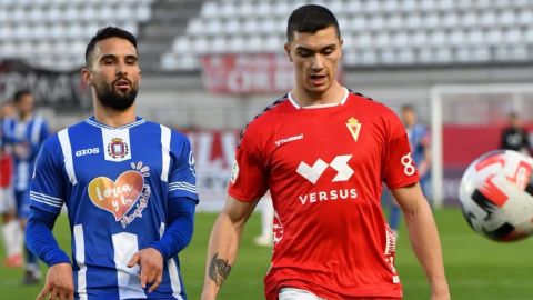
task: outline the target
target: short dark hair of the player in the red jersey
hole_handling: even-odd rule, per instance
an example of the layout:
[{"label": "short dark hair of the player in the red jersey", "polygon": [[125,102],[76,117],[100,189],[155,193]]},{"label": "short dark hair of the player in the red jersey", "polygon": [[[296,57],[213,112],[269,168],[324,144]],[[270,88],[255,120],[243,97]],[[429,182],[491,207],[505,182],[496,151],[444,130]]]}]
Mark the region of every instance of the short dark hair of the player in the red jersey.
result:
[{"label": "short dark hair of the player in the red jersey", "polygon": [[341,39],[341,30],[335,16],[329,9],[306,4],[292,11],[286,22],[286,40],[291,42],[294,39],[294,32],[315,33],[319,30],[333,26],[336,37]]}]

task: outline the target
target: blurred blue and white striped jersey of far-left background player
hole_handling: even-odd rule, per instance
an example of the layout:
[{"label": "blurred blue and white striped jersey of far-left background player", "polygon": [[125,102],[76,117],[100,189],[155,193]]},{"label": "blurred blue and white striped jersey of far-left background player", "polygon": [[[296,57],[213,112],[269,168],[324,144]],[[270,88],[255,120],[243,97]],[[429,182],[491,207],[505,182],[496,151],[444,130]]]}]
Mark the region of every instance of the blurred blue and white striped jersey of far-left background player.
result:
[{"label": "blurred blue and white striped jersey of far-left background player", "polygon": [[9,117],[3,120],[2,131],[3,142],[14,158],[13,188],[17,191],[27,191],[37,154],[49,136],[47,122],[40,116],[26,121]]}]

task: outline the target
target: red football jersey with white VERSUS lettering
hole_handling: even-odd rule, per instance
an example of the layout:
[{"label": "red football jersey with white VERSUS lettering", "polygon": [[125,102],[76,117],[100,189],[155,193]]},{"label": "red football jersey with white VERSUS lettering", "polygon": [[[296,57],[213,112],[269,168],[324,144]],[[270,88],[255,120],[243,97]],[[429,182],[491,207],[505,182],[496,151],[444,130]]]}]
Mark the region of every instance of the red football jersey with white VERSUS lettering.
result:
[{"label": "red football jersey with white VERSUS lettering", "polygon": [[340,104],[301,108],[290,96],[249,123],[229,193],[270,189],[275,210],[268,299],[283,287],[326,299],[401,298],[382,182],[419,181],[408,137],[385,106],[349,92]]}]

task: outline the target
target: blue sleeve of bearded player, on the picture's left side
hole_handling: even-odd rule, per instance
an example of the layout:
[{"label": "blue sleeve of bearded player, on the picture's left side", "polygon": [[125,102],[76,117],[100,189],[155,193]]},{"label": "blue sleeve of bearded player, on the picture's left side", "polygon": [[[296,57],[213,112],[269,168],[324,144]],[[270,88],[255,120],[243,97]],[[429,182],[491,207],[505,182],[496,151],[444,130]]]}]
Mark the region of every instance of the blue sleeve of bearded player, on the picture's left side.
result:
[{"label": "blue sleeve of bearded player, on the picture's left side", "polygon": [[61,147],[57,136],[48,139],[37,157],[30,184],[30,206],[59,213],[64,202],[66,178]]}]

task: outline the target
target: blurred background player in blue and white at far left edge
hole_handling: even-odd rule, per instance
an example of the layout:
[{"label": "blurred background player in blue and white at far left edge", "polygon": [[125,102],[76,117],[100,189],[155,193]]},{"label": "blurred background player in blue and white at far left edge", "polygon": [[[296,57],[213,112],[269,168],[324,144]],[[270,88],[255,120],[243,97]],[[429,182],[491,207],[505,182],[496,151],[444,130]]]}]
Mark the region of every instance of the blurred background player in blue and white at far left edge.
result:
[{"label": "blurred background player in blue and white at far left edge", "polygon": [[[13,158],[13,190],[17,218],[22,230],[30,214],[30,188],[33,164],[43,141],[49,136],[47,122],[33,112],[34,99],[30,90],[18,90],[13,96],[14,113],[2,123],[3,140]],[[21,233],[22,234],[22,233]],[[22,237],[18,242],[22,242]],[[37,257],[26,248],[24,284],[39,282],[41,274]]]}]

